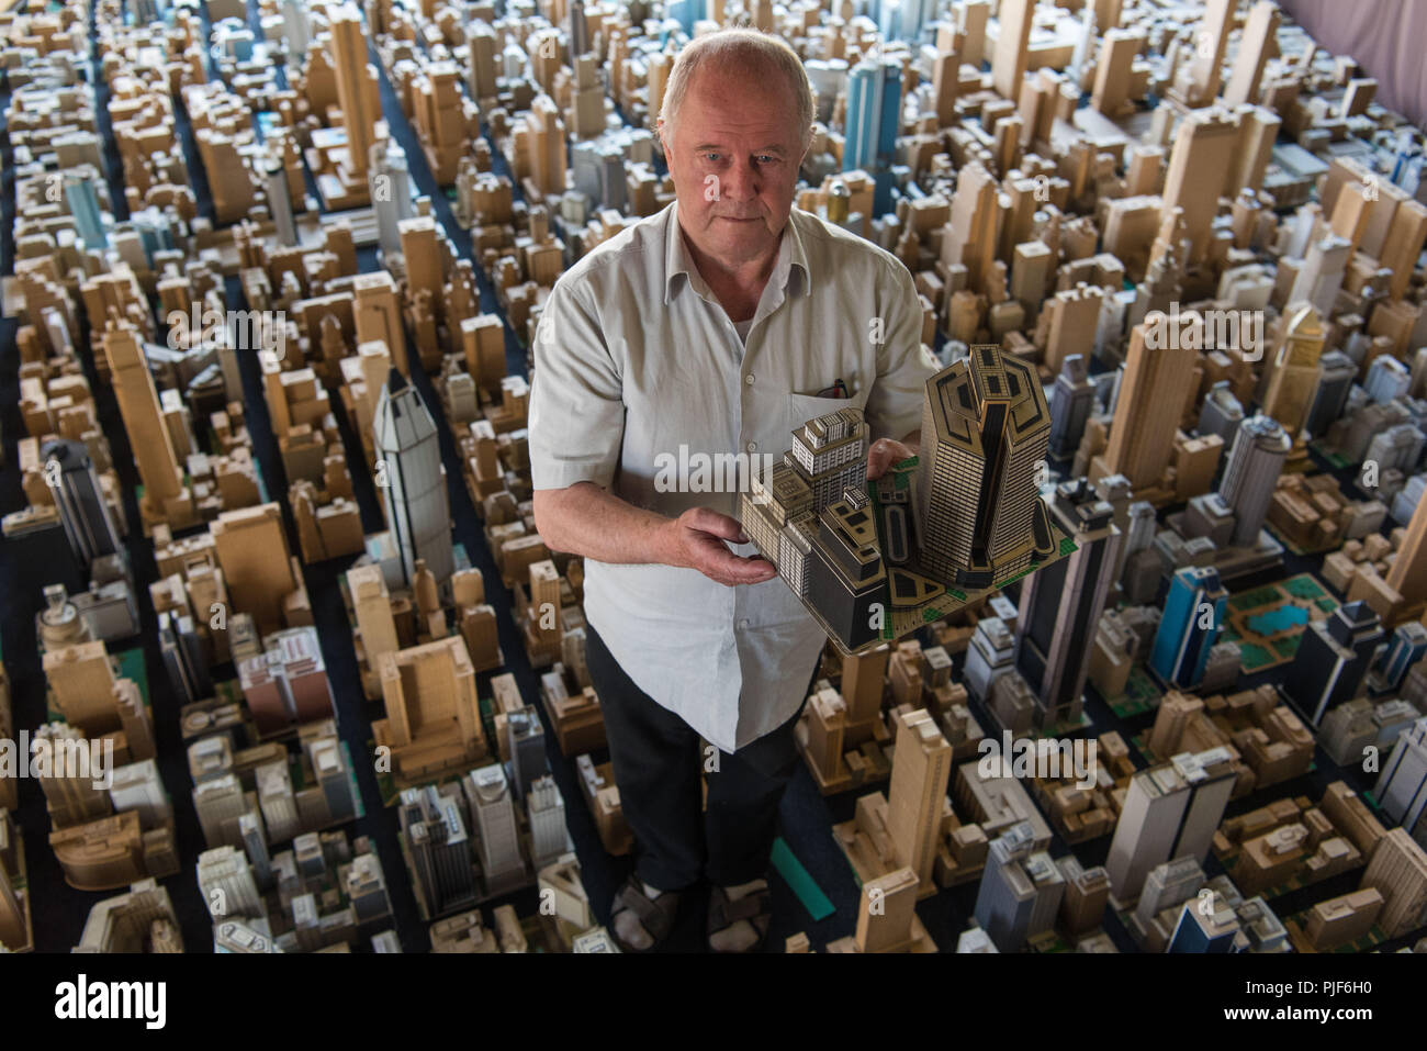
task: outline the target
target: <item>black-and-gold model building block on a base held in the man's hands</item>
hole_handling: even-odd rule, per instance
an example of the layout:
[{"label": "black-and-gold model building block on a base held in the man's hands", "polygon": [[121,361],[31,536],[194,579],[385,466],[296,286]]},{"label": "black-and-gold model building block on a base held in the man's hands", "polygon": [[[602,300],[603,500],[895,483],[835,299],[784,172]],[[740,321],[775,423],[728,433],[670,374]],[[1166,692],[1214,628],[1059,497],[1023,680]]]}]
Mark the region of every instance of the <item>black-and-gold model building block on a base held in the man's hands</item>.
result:
[{"label": "black-and-gold model building block on a base held in the man's hands", "polygon": [[900,638],[1075,551],[1037,490],[1050,411],[996,344],[926,383],[919,456],[868,481],[868,424],[839,408],[739,498],[743,531],[845,653]]}]

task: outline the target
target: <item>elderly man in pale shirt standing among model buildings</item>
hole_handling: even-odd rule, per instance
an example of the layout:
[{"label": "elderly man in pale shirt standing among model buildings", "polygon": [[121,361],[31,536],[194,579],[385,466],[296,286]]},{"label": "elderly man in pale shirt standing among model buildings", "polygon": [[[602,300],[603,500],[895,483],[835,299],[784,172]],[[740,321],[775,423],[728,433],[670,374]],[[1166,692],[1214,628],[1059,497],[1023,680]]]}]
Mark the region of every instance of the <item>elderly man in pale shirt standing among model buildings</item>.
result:
[{"label": "elderly man in pale shirt standing among model buildings", "polygon": [[812,123],[785,43],[691,41],[658,121],[675,203],[567,271],[535,336],[535,524],[585,557],[586,663],[639,848],[611,908],[629,951],[668,938],[705,880],[709,947],[762,945],[793,727],[826,638],[748,543],[738,494],[669,467],[763,464],[850,407],[878,477],[915,451],[936,371],[906,267],[792,207]]}]

